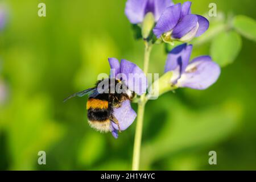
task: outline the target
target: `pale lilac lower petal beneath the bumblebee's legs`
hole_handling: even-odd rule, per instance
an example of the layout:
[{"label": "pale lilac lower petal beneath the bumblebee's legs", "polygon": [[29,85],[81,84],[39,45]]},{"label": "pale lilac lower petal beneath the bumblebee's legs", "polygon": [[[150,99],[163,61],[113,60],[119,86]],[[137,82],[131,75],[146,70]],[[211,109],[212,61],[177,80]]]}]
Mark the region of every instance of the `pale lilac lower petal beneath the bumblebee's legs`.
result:
[{"label": "pale lilac lower petal beneath the bumblebee's legs", "polygon": [[[123,101],[121,107],[115,108],[113,114],[119,122],[121,131],[126,130],[137,117],[136,112],[133,110],[133,108],[131,108],[131,103],[129,100]],[[117,124],[112,122],[112,125],[115,130],[119,130]]]}]

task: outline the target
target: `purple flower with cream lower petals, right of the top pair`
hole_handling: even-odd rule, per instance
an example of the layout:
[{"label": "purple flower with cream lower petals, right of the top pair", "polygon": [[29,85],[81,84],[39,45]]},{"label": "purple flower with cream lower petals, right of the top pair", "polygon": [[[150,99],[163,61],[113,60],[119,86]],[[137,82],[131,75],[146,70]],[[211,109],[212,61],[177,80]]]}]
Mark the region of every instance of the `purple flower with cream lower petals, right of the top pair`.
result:
[{"label": "purple flower with cream lower petals, right of the top pair", "polygon": [[154,34],[162,36],[165,42],[179,40],[188,42],[194,37],[202,35],[209,28],[209,21],[200,15],[191,14],[191,2],[184,2],[167,7],[160,16]]}]

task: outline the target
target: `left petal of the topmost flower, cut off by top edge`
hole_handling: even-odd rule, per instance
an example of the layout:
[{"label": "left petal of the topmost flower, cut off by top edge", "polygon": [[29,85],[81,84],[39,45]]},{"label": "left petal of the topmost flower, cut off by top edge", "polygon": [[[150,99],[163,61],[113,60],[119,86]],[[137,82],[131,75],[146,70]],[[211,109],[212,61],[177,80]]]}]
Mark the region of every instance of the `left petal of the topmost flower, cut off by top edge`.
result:
[{"label": "left petal of the topmost flower, cut off by top edge", "polygon": [[147,0],[128,0],[126,2],[125,14],[131,23],[137,24],[143,21],[146,5]]}]

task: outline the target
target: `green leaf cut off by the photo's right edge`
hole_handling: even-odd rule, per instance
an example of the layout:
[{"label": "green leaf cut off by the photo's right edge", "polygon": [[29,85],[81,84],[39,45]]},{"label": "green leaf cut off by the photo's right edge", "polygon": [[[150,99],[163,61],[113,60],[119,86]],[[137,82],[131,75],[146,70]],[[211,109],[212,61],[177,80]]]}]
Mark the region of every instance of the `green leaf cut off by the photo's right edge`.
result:
[{"label": "green leaf cut off by the photo's right edge", "polygon": [[235,16],[233,19],[233,27],[247,39],[256,42],[256,21],[244,15]]}]

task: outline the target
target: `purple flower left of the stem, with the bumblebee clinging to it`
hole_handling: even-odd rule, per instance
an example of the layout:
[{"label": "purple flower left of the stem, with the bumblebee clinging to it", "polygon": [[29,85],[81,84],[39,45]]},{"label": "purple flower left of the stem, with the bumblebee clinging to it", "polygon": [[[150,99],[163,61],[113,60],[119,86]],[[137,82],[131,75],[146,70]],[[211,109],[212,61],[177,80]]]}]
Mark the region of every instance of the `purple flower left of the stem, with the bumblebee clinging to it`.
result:
[{"label": "purple flower left of the stem, with the bumblebee clinging to it", "polygon": [[[121,63],[115,58],[109,58],[110,77],[121,80],[123,84],[127,85],[127,89],[139,95],[146,92],[147,78],[141,68],[130,61],[121,60]],[[126,130],[127,127],[134,122],[137,114],[131,108],[130,100],[122,102],[121,107],[115,108],[113,111],[114,117],[117,118],[120,130]],[[112,135],[114,138],[118,137],[118,125],[112,122]]]}]

